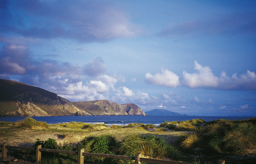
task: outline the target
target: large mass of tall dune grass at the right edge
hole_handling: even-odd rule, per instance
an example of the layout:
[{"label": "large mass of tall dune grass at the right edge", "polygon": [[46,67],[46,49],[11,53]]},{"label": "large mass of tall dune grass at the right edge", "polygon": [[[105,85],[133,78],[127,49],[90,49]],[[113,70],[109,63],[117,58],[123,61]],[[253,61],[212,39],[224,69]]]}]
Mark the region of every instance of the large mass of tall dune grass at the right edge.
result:
[{"label": "large mass of tall dune grass at the right edge", "polygon": [[[218,153],[242,155],[246,149],[256,147],[255,119],[247,121],[215,120],[185,136],[183,148],[201,146]],[[200,144],[199,144],[200,143]]]}]

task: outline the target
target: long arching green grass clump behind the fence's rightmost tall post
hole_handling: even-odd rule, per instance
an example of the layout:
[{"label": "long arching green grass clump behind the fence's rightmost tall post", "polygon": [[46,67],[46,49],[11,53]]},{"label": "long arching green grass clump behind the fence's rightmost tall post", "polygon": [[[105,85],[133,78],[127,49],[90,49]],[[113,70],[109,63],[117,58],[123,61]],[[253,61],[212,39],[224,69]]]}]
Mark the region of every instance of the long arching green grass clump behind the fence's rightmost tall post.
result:
[{"label": "long arching green grass clump behind the fence's rightmost tall post", "polygon": [[119,149],[121,154],[128,156],[135,156],[136,153],[141,152],[145,156],[159,159],[163,157],[177,159],[180,155],[177,149],[154,135],[130,134],[121,142]]}]

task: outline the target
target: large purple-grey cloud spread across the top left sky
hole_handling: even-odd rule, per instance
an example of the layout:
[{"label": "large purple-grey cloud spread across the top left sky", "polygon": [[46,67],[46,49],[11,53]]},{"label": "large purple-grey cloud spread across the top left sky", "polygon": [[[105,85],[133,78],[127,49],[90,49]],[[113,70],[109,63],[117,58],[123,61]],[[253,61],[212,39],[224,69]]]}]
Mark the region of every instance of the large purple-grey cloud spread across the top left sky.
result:
[{"label": "large purple-grey cloud spread across the top left sky", "polygon": [[133,37],[140,31],[120,7],[107,1],[11,1],[1,12],[2,32],[31,38],[91,42]]}]

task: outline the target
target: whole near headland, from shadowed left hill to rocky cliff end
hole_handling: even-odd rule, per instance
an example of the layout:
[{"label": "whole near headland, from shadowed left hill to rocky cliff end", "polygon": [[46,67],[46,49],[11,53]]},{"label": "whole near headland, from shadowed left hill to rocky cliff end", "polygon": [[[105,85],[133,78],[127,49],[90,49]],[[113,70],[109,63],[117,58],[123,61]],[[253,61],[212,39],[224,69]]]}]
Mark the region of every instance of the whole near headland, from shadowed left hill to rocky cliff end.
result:
[{"label": "whole near headland, from shadowed left hill to rocky cliff end", "polygon": [[0,79],[0,116],[146,115],[135,104],[109,100],[70,102],[55,93]]}]

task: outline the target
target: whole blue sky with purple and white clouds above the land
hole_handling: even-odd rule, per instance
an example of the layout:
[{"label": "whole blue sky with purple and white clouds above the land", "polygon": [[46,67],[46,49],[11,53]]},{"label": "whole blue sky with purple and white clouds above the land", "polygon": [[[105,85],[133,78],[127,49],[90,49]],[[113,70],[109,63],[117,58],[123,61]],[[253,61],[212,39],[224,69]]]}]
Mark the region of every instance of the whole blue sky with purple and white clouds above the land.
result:
[{"label": "whole blue sky with purple and white clouds above the land", "polygon": [[0,78],[69,101],[256,116],[254,0],[0,0]]}]

